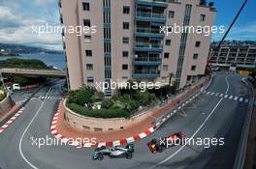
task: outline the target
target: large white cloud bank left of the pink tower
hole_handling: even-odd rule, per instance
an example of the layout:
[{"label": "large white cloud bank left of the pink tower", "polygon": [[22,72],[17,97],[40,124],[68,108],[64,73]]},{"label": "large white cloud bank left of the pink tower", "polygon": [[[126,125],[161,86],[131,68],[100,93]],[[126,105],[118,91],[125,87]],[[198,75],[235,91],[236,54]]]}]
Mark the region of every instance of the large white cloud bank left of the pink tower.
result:
[{"label": "large white cloud bank left of the pink tower", "polygon": [[[42,1],[38,1],[38,3],[42,3]],[[16,8],[19,7],[16,6]],[[47,17],[28,16],[16,13],[11,7],[0,6],[0,42],[62,50],[61,33],[44,34],[44,36],[33,34],[32,26],[45,25],[46,23],[53,25]]]}]

